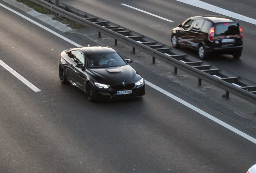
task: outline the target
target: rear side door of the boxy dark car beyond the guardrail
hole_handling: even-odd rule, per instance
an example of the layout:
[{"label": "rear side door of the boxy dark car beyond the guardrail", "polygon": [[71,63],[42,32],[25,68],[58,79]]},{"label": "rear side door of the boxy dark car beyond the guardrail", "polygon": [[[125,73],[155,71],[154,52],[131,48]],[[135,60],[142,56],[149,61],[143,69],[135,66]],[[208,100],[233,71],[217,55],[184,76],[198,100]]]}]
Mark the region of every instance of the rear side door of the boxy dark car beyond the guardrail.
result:
[{"label": "rear side door of the boxy dark car beyond the guardrail", "polygon": [[192,24],[192,28],[190,31],[191,39],[188,40],[188,46],[191,48],[197,49],[198,44],[204,39],[204,32],[201,31],[202,25],[204,24],[204,20],[196,20]]}]

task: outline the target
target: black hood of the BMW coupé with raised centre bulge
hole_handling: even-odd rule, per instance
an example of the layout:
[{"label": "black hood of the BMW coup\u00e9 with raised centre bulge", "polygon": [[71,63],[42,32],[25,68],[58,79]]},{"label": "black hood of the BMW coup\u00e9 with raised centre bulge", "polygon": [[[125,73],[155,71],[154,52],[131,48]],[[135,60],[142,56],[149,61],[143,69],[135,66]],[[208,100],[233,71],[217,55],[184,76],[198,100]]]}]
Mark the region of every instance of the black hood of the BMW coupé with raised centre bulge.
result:
[{"label": "black hood of the BMW coup\u00e9 with raised centre bulge", "polygon": [[135,83],[141,76],[130,66],[89,69],[97,82],[103,84],[122,84],[122,82]]}]

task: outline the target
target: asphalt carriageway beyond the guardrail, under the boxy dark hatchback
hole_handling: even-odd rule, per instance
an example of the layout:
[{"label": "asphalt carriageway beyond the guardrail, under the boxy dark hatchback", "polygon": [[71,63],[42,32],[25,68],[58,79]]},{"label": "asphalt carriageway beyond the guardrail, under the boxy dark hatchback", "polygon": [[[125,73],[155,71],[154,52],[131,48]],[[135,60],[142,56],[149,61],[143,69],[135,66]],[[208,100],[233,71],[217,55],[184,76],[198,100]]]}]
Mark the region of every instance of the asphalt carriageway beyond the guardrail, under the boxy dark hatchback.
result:
[{"label": "asphalt carriageway beyond the guardrail, under the boxy dark hatchback", "polygon": [[[171,46],[171,29],[177,27],[178,24],[181,24],[187,18],[200,15],[219,15],[219,13],[204,10],[179,1],[180,0],[60,0],[60,2],[73,6],[74,8],[83,10],[84,12],[93,14],[99,18],[109,20],[169,46]],[[190,2],[190,0],[184,1]],[[195,4],[197,4],[196,2],[198,1],[193,0],[191,2],[195,2]],[[256,19],[256,14],[254,12],[256,8],[255,1],[202,0],[202,2]],[[122,4],[127,4],[134,8],[161,16],[172,20],[173,22],[168,22]],[[222,12],[222,10],[220,10],[220,12]],[[238,60],[234,60],[231,55],[215,56],[205,60],[205,62],[208,62],[213,66],[217,66],[222,70],[231,72],[237,76],[256,82],[256,25],[242,20],[237,21],[239,21],[244,34],[244,50],[242,57]],[[192,58],[199,60],[196,51],[188,50],[184,47],[174,51],[181,54],[182,52],[185,52]]]}]

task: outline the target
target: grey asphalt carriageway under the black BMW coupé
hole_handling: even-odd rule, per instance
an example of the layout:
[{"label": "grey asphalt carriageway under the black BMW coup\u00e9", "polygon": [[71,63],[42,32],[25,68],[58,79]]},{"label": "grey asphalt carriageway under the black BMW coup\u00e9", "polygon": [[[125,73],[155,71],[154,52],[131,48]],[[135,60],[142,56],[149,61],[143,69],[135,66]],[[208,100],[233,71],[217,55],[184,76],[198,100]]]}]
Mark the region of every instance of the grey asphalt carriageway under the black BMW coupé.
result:
[{"label": "grey asphalt carriageway under the black BMW coup\u00e9", "polygon": [[[58,78],[59,54],[74,45],[5,8],[0,16],[5,19],[0,60],[40,89],[31,90],[0,66],[0,173],[241,173],[255,163],[255,143],[148,85],[142,99],[89,102]],[[95,44],[60,34],[84,46]],[[190,91],[178,83],[158,82],[161,76],[131,65],[147,81],[214,117],[229,114],[196,93],[194,100],[184,95]]]}]

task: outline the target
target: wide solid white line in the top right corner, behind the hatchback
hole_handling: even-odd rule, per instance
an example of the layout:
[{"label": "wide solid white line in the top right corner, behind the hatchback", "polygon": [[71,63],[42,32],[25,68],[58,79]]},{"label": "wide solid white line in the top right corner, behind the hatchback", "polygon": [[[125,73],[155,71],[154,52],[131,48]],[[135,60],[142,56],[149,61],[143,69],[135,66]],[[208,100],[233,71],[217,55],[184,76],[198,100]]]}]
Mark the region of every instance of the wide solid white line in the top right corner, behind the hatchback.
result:
[{"label": "wide solid white line in the top right corner, behind the hatchback", "polygon": [[236,18],[238,20],[249,22],[251,24],[256,24],[256,20],[253,19],[253,18],[249,18],[249,17],[243,16],[241,14],[237,14],[237,13],[231,12],[229,10],[219,8],[217,6],[208,4],[206,2],[202,2],[200,0],[176,0],[176,1],[183,2],[185,4],[189,4],[189,5],[192,5],[192,6],[199,7],[199,8],[203,8],[205,10],[209,10],[211,12],[219,13],[219,14],[222,14],[222,15],[225,15],[225,16],[229,16],[231,18]]}]

